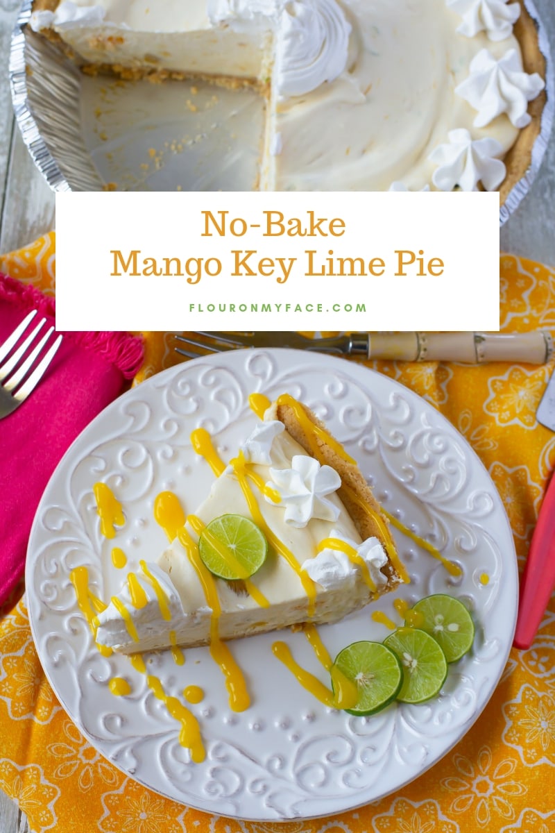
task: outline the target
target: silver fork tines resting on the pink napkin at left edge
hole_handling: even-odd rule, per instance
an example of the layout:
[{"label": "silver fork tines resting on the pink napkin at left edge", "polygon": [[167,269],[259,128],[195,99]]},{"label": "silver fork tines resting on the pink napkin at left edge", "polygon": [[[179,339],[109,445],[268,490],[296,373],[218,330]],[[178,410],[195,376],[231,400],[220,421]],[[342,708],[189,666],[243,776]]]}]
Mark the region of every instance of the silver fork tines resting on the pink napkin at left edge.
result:
[{"label": "silver fork tines resting on the pink napkin at left edge", "polygon": [[[31,332],[26,333],[36,315],[37,310],[29,312],[11,336],[0,345],[0,419],[25,402],[41,381],[62,342],[62,336],[58,336],[48,347],[54,327],[48,327],[47,332],[37,341],[46,324],[44,318]],[[22,338],[23,341],[18,343]]]}]

